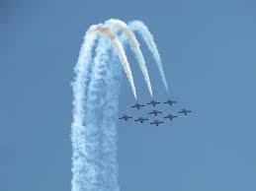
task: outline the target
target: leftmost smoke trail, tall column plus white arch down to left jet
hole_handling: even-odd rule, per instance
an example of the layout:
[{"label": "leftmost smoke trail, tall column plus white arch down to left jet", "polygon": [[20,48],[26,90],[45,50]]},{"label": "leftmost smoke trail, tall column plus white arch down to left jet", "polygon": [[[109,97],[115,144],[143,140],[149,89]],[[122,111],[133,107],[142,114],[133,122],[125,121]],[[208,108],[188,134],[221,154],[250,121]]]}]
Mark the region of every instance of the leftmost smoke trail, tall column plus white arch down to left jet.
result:
[{"label": "leftmost smoke trail, tall column plus white arch down to left jet", "polygon": [[[95,102],[94,100],[99,97],[100,93],[97,91],[104,89],[95,88],[94,83],[98,77],[97,75],[100,74],[100,69],[92,66],[91,59],[97,32],[106,34],[112,40],[127,73],[133,95],[136,97],[131,71],[122,43],[115,36],[115,33],[100,26],[92,26],[86,32],[78,62],[74,69],[76,77],[73,82],[74,108],[71,127],[73,149],[72,191],[99,191],[99,161],[97,161],[99,159],[99,153],[97,152],[99,151],[99,132],[95,113],[99,111],[99,105],[95,107],[92,102]],[[85,95],[87,96],[85,97]]]}]

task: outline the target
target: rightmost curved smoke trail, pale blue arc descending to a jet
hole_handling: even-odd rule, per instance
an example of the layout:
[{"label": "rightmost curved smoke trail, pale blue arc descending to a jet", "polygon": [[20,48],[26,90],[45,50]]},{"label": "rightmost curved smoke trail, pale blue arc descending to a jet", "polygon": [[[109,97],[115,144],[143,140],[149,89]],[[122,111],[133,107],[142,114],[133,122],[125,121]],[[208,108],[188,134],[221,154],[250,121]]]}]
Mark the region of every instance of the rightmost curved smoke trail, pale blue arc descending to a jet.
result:
[{"label": "rightmost curved smoke trail, pale blue arc descending to a jet", "polygon": [[133,32],[139,32],[139,34],[142,36],[142,38],[145,41],[148,49],[150,50],[150,52],[152,53],[152,55],[153,55],[153,57],[156,61],[157,68],[158,68],[160,76],[162,78],[164,87],[166,89],[167,94],[169,94],[169,88],[168,88],[168,85],[167,85],[167,82],[166,82],[166,79],[165,79],[165,74],[164,74],[164,70],[163,70],[163,66],[162,66],[161,57],[160,57],[160,54],[158,52],[157,46],[154,42],[153,35],[149,32],[147,27],[140,21],[130,22],[128,24],[128,28]]}]

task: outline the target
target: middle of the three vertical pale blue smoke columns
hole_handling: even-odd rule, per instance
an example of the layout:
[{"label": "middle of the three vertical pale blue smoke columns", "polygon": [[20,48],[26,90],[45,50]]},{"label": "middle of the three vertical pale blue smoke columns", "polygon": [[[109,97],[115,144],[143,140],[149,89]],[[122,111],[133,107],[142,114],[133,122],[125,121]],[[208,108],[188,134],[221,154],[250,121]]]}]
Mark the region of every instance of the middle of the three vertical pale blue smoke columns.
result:
[{"label": "middle of the three vertical pale blue smoke columns", "polygon": [[[99,39],[99,43],[101,39]],[[97,52],[103,52],[105,46],[103,43],[98,44],[96,48]],[[83,139],[85,144],[85,150],[87,153],[86,158],[83,159],[84,168],[80,168],[80,182],[78,186],[79,191],[99,191],[101,187],[100,179],[100,126],[102,106],[104,95],[106,90],[105,86],[105,67],[106,61],[108,60],[107,55],[101,56],[103,63],[98,61],[98,57],[94,58],[94,65],[90,74],[90,81],[87,86],[86,99],[85,99],[85,111],[83,124],[85,131],[83,133]]]}]

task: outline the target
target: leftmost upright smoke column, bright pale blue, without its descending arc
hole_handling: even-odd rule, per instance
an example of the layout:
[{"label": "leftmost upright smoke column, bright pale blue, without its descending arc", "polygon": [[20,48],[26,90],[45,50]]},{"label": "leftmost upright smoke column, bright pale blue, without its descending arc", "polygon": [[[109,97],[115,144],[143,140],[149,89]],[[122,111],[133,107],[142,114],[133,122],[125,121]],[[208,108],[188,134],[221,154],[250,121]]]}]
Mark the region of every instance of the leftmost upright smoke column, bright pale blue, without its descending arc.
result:
[{"label": "leftmost upright smoke column, bright pale blue, without its descending arc", "polygon": [[[90,167],[87,159],[90,159],[91,147],[86,143],[86,138],[90,135],[90,131],[86,129],[83,124],[85,116],[85,94],[90,80],[90,73],[92,67],[92,48],[97,36],[90,32],[96,26],[92,26],[84,37],[78,62],[75,66],[76,77],[73,82],[73,123],[71,126],[71,142],[72,142],[72,191],[82,191],[84,186],[91,180],[95,180],[95,169]],[[84,171],[87,170],[84,174]]]}]

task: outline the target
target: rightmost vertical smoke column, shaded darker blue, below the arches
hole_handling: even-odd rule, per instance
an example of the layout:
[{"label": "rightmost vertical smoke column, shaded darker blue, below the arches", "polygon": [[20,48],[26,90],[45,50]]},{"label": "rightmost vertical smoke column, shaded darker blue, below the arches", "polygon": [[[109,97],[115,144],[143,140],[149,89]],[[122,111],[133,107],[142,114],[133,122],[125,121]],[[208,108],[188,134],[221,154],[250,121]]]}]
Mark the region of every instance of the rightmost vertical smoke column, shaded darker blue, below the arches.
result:
[{"label": "rightmost vertical smoke column, shaded darker blue, below the arches", "polygon": [[[102,106],[101,121],[101,180],[102,191],[119,191],[117,161],[117,115],[121,84],[121,65],[110,43],[101,41],[105,49],[97,51],[95,63],[105,62],[106,93]],[[103,45],[104,44],[104,45]],[[106,54],[108,53],[108,56]],[[108,58],[108,59],[106,59]]]}]

